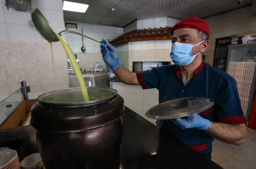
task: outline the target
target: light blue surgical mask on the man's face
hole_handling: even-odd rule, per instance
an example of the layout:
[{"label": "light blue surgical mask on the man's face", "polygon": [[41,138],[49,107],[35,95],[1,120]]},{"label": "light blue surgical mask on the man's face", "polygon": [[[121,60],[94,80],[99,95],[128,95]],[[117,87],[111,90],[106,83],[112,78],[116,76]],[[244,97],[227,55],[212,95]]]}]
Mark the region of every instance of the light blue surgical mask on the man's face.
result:
[{"label": "light blue surgical mask on the man's face", "polygon": [[[204,40],[202,42],[204,42]],[[199,42],[198,44],[202,42]],[[171,45],[170,53],[173,63],[180,66],[187,66],[188,64],[190,64],[194,60],[194,58],[196,58],[196,56],[200,54],[199,52],[198,54],[192,55],[193,46],[196,46],[198,44],[193,45],[188,43],[174,42]]]}]

